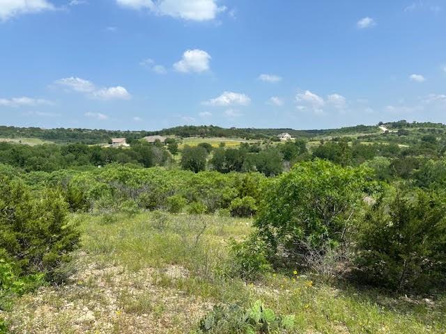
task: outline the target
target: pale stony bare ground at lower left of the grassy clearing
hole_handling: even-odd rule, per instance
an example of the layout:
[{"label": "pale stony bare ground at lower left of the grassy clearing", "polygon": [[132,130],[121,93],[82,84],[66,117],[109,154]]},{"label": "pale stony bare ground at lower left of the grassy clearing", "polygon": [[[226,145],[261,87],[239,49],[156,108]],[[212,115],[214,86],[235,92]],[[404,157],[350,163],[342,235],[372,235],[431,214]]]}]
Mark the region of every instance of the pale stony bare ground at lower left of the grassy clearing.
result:
[{"label": "pale stony bare ground at lower left of the grassy clearing", "polygon": [[128,271],[83,260],[66,285],[20,299],[6,320],[12,333],[188,333],[212,308],[157,280],[187,276],[182,267]]}]

